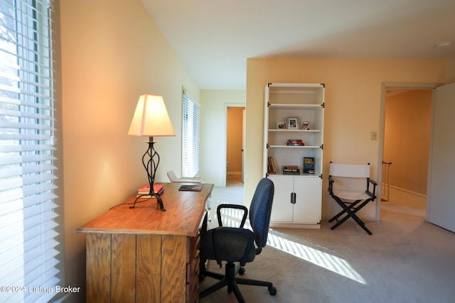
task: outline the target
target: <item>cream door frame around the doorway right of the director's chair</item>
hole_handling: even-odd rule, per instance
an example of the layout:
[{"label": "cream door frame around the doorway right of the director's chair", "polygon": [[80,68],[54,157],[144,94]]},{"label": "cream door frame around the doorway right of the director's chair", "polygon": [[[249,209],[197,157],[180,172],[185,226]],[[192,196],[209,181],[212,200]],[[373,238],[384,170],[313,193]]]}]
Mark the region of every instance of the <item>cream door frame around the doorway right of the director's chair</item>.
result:
[{"label": "cream door frame around the doorway right of the director's chair", "polygon": [[[384,135],[385,135],[385,92],[387,89],[432,89],[432,115],[434,104],[434,89],[441,86],[439,83],[415,83],[415,82],[382,82],[381,88],[381,108],[380,108],[380,126],[379,126],[379,153],[378,153],[378,194],[376,197],[376,221],[381,217],[381,194],[382,194],[382,157],[384,156]],[[430,134],[429,148],[432,148],[432,134]],[[429,159],[428,159],[429,160]],[[427,200],[428,209],[428,200]]]}]

